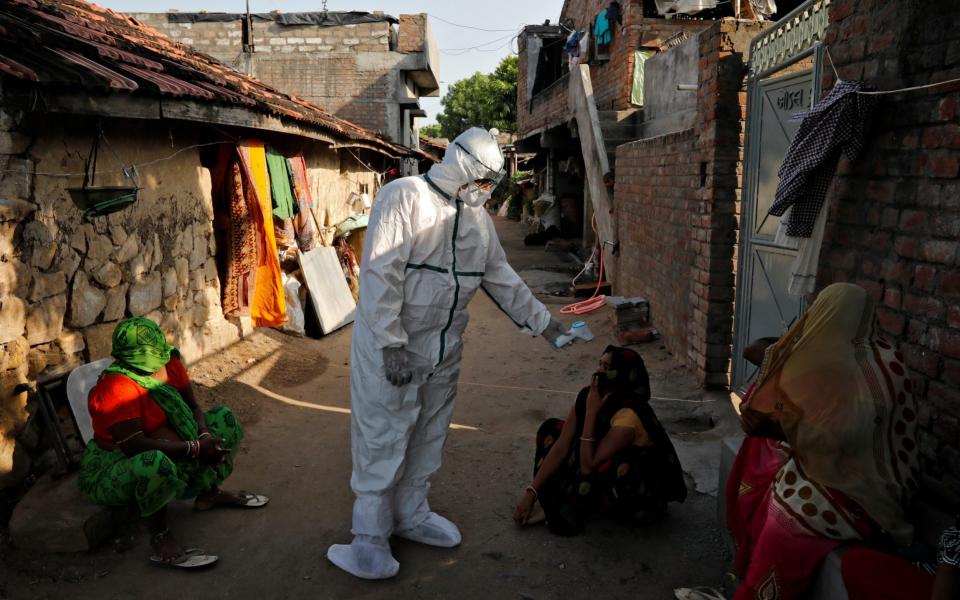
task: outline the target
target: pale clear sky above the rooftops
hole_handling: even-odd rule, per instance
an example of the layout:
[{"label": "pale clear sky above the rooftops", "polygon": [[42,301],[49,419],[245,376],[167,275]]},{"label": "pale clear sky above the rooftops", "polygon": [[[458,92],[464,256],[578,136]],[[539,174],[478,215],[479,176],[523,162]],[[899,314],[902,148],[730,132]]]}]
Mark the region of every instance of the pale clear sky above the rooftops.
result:
[{"label": "pale clear sky above the rooftops", "polygon": [[[97,4],[124,12],[243,12],[245,0],[94,0]],[[401,13],[428,13],[434,37],[440,46],[440,97],[423,98],[427,112],[424,124],[436,121],[442,109],[440,98],[451,83],[477,71],[489,73],[511,52],[516,40],[511,39],[523,25],[540,25],[545,19],[556,23],[562,0],[328,0],[327,10],[382,10],[398,16]],[[308,12],[323,10],[323,0],[250,0],[252,12]],[[444,21],[455,23],[445,23]],[[479,29],[496,31],[479,31]],[[468,49],[469,48],[469,49]]]}]

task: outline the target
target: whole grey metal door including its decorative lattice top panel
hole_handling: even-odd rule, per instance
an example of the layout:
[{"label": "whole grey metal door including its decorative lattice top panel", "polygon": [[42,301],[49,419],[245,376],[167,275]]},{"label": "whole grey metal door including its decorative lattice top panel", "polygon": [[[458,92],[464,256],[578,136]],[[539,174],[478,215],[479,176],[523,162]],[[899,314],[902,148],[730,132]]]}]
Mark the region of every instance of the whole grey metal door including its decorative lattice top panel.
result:
[{"label": "whole grey metal door including its decorative lattice top panel", "polygon": [[[808,0],[750,44],[732,373],[733,390],[741,394],[757,371],[743,359],[743,349],[757,338],[779,337],[805,308],[787,293],[796,251],[774,243],[780,219],[767,211],[777,171],[800,127],[796,116],[820,90],[829,6],[830,0]],[[811,68],[799,71],[801,61]],[[788,69],[794,72],[785,74]]]}]

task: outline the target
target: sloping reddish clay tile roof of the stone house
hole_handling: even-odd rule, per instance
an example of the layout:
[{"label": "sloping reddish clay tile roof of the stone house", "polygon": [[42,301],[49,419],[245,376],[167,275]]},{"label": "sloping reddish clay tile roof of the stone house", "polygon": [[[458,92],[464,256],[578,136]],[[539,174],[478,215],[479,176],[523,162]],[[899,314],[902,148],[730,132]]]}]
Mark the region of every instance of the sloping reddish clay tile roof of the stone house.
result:
[{"label": "sloping reddish clay tile roof of the stone house", "polygon": [[0,77],[57,89],[80,86],[91,92],[241,105],[345,142],[422,157],[128,15],[83,0],[0,0]]}]

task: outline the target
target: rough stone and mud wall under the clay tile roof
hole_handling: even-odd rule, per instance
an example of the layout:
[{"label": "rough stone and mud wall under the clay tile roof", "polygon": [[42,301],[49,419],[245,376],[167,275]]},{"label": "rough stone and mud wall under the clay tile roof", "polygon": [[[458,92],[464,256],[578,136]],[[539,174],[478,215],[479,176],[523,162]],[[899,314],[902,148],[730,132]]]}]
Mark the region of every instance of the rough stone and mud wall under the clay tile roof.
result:
[{"label": "rough stone and mud wall under the clay tile roof", "polygon": [[[143,165],[141,190],[133,206],[85,221],[66,188],[81,183],[96,120],[0,105],[0,489],[29,464],[16,443],[28,417],[26,394],[13,393],[18,383],[108,356],[114,327],[129,316],[159,323],[188,362],[239,339],[220,304],[210,172],[199,149],[177,152],[201,141],[200,128],[122,119],[103,126],[110,146],[96,183],[124,185],[122,160]],[[361,209],[347,205],[350,192],[376,191],[376,175],[345,150],[289,136],[275,144],[304,152],[321,225]],[[379,160],[354,152],[367,164]]]}]

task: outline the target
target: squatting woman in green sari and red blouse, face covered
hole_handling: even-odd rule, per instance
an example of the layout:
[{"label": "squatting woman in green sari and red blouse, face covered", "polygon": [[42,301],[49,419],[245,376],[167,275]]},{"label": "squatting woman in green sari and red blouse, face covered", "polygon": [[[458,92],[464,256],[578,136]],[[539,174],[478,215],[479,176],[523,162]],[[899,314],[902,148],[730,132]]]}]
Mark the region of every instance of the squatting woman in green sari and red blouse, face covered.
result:
[{"label": "squatting woman in green sari and red blouse, face covered", "polygon": [[167,527],[167,505],[176,498],[195,498],[197,510],[267,503],[220,488],[243,428],[229,408],[197,405],[179,353],[153,321],[117,325],[111,355],[114,363],[90,391],[94,437],[80,463],[80,490],[98,504],[136,507],[150,528],[154,563],[212,564],[216,556],[180,546]]}]

